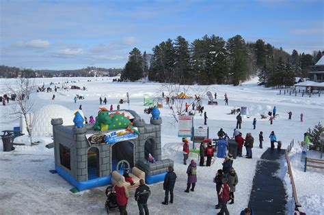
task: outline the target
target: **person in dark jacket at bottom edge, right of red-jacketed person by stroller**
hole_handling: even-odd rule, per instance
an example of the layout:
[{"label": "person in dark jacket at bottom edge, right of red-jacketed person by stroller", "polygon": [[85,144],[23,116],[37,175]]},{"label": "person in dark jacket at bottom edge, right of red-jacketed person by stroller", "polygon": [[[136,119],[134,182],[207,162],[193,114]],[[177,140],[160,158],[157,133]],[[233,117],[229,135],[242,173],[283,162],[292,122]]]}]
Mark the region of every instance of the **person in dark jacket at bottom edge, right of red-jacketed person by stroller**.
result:
[{"label": "person in dark jacket at bottom edge, right of red-jacketed person by stroller", "polygon": [[148,186],[145,185],[144,180],[139,180],[139,187],[135,191],[135,201],[139,210],[139,215],[148,215],[148,197],[150,197],[151,191]]}]

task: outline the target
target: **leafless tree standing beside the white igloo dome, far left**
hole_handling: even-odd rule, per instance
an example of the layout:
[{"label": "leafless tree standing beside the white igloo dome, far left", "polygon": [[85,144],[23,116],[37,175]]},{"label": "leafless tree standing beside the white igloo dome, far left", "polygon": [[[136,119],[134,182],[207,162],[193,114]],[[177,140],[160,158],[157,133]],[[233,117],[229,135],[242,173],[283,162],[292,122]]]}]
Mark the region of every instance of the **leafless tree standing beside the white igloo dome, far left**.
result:
[{"label": "leafless tree standing beside the white igloo dome, far left", "polygon": [[[25,117],[25,123],[27,125],[27,132],[29,137],[31,137],[31,127],[27,121],[27,115],[30,113],[33,106],[33,101],[29,98],[33,89],[35,89],[34,81],[31,81],[30,78],[20,77],[16,79],[15,83],[12,85],[7,85],[8,91],[10,94],[16,95],[11,113],[21,117]],[[10,96],[10,95],[8,95]]]}]

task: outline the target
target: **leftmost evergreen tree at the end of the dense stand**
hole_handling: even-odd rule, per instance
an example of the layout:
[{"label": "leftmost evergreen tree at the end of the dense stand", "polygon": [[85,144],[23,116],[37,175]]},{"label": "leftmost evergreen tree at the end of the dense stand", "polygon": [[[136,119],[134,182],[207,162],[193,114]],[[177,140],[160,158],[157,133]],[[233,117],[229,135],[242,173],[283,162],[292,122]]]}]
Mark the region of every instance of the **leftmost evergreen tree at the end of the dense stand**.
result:
[{"label": "leftmost evergreen tree at the end of the dense stand", "polygon": [[144,61],[141,56],[141,51],[138,48],[133,48],[129,53],[129,61],[126,63],[122,72],[122,79],[129,79],[130,81],[137,81],[143,77]]}]

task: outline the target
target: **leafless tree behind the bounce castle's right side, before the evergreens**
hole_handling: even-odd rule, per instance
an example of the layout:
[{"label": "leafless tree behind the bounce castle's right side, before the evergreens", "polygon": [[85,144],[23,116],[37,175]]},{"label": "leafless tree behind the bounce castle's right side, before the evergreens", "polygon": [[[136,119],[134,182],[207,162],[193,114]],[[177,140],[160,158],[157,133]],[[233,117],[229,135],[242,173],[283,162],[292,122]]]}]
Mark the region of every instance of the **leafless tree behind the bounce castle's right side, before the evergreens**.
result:
[{"label": "leafless tree behind the bounce castle's right side, before the evergreens", "polygon": [[[188,103],[189,107],[191,107],[193,103],[195,103],[196,106],[197,104],[200,104],[200,101],[206,95],[206,91],[208,91],[208,87],[197,87],[196,89],[193,89],[190,85],[180,85],[181,81],[174,83],[172,80],[179,80],[179,77],[176,77],[176,79],[172,77],[165,78],[165,82],[160,90],[163,92],[166,91],[165,96],[170,98],[168,104],[170,107],[170,115],[172,115],[174,121],[178,122],[178,116],[185,114],[185,104]],[[200,101],[195,99],[176,99],[178,94],[183,93],[188,95],[188,93],[192,91],[195,92],[195,96],[200,98]],[[193,113],[195,113],[195,110],[193,110]]]}]

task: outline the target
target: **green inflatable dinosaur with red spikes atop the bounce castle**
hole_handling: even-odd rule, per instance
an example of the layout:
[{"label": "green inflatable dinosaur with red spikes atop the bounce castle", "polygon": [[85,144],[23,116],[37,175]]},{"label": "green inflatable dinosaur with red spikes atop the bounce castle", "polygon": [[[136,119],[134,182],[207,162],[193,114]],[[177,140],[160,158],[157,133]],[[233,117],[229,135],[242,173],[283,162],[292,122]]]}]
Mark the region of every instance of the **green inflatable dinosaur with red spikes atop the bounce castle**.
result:
[{"label": "green inflatable dinosaur with red spikes atop the bounce castle", "polygon": [[106,108],[100,108],[98,119],[94,124],[94,130],[106,131],[120,128],[139,134],[133,127],[133,122],[129,120],[129,117],[125,117],[124,113],[116,112],[115,114],[109,114]]}]

